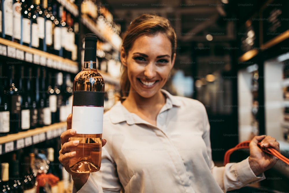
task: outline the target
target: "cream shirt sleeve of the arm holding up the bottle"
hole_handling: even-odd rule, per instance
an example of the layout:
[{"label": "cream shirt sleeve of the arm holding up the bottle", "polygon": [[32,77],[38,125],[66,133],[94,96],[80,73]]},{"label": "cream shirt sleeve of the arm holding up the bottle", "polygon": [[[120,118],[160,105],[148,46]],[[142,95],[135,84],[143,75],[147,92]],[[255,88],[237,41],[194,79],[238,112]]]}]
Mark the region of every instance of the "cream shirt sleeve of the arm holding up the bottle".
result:
[{"label": "cream shirt sleeve of the arm holding up the bottle", "polygon": [[101,168],[97,172],[90,173],[86,183],[80,190],[73,185],[72,193],[95,192],[95,193],[117,193],[121,192],[122,186],[116,172],[116,165],[108,154],[105,147],[102,148]]}]

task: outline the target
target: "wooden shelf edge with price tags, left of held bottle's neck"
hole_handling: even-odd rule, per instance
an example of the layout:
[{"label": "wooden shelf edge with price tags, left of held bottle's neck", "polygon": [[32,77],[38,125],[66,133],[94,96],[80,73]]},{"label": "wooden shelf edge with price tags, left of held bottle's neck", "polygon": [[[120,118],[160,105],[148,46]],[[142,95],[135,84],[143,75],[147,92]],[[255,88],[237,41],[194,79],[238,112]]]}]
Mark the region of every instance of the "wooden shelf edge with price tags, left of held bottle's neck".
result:
[{"label": "wooden shelf edge with price tags, left of held bottle's neck", "polygon": [[0,38],[0,55],[71,73],[79,71],[75,61]]}]

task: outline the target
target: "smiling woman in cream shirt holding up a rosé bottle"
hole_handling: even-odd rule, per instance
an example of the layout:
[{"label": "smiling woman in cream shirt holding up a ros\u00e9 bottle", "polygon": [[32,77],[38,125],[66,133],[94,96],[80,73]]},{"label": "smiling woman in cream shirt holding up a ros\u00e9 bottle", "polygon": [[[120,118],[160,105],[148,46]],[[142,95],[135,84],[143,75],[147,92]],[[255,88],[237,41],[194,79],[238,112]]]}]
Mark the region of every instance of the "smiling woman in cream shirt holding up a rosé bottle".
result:
[{"label": "smiling woman in cream shirt holding up a ros\u00e9 bottle", "polygon": [[176,35],[167,19],[144,14],[129,26],[121,48],[124,66],[123,100],[105,113],[101,170],[75,174],[68,161],[78,141],[62,133],[59,160],[72,174],[74,192],[226,192],[264,179],[277,158],[258,148],[279,144],[256,136],[250,156],[215,167],[211,156],[210,125],[205,107],[189,98],[172,96],[162,87],[175,62]]}]

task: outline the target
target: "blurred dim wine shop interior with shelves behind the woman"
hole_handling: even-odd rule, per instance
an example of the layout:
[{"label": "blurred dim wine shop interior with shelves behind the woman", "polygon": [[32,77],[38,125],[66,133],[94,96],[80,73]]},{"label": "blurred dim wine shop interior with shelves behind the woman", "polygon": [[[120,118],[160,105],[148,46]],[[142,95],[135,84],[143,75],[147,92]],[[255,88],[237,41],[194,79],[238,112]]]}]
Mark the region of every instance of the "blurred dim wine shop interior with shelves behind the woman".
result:
[{"label": "blurred dim wine shop interior with shelves behind the woman", "polygon": [[[10,12],[9,3],[15,8]],[[108,111],[121,95],[122,37],[144,13],[166,17],[175,29],[177,57],[164,89],[204,104],[215,164],[222,166],[229,148],[255,135],[275,137],[289,158],[288,1],[0,0],[0,8],[0,163],[29,166],[36,154],[46,156],[54,164],[48,171],[58,177],[51,192],[71,192],[58,152],[73,79],[83,68],[85,34],[98,37],[97,69]],[[27,113],[26,124],[11,121]],[[237,151],[231,161],[248,156]],[[10,166],[10,176],[19,176],[13,171]],[[278,161],[265,176],[254,186],[288,192],[286,163]],[[25,187],[31,189],[34,178],[25,176]]]}]

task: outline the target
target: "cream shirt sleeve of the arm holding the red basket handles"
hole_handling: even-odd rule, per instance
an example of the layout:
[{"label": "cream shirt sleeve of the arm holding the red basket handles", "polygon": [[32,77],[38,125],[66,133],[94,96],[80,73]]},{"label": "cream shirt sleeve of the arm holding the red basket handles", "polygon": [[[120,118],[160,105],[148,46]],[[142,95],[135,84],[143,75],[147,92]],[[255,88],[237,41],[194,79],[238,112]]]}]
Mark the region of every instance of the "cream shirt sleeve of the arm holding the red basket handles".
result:
[{"label": "cream shirt sleeve of the arm holding the red basket handles", "polygon": [[[204,108],[205,110],[205,108]],[[203,139],[207,146],[208,156],[211,160],[209,167],[214,179],[217,181],[221,189],[226,192],[242,188],[251,183],[256,183],[265,179],[264,173],[256,176],[249,165],[249,157],[238,163],[227,163],[226,166],[217,167],[212,161],[212,149],[210,142],[210,123],[208,115],[204,113],[204,134]]]}]

